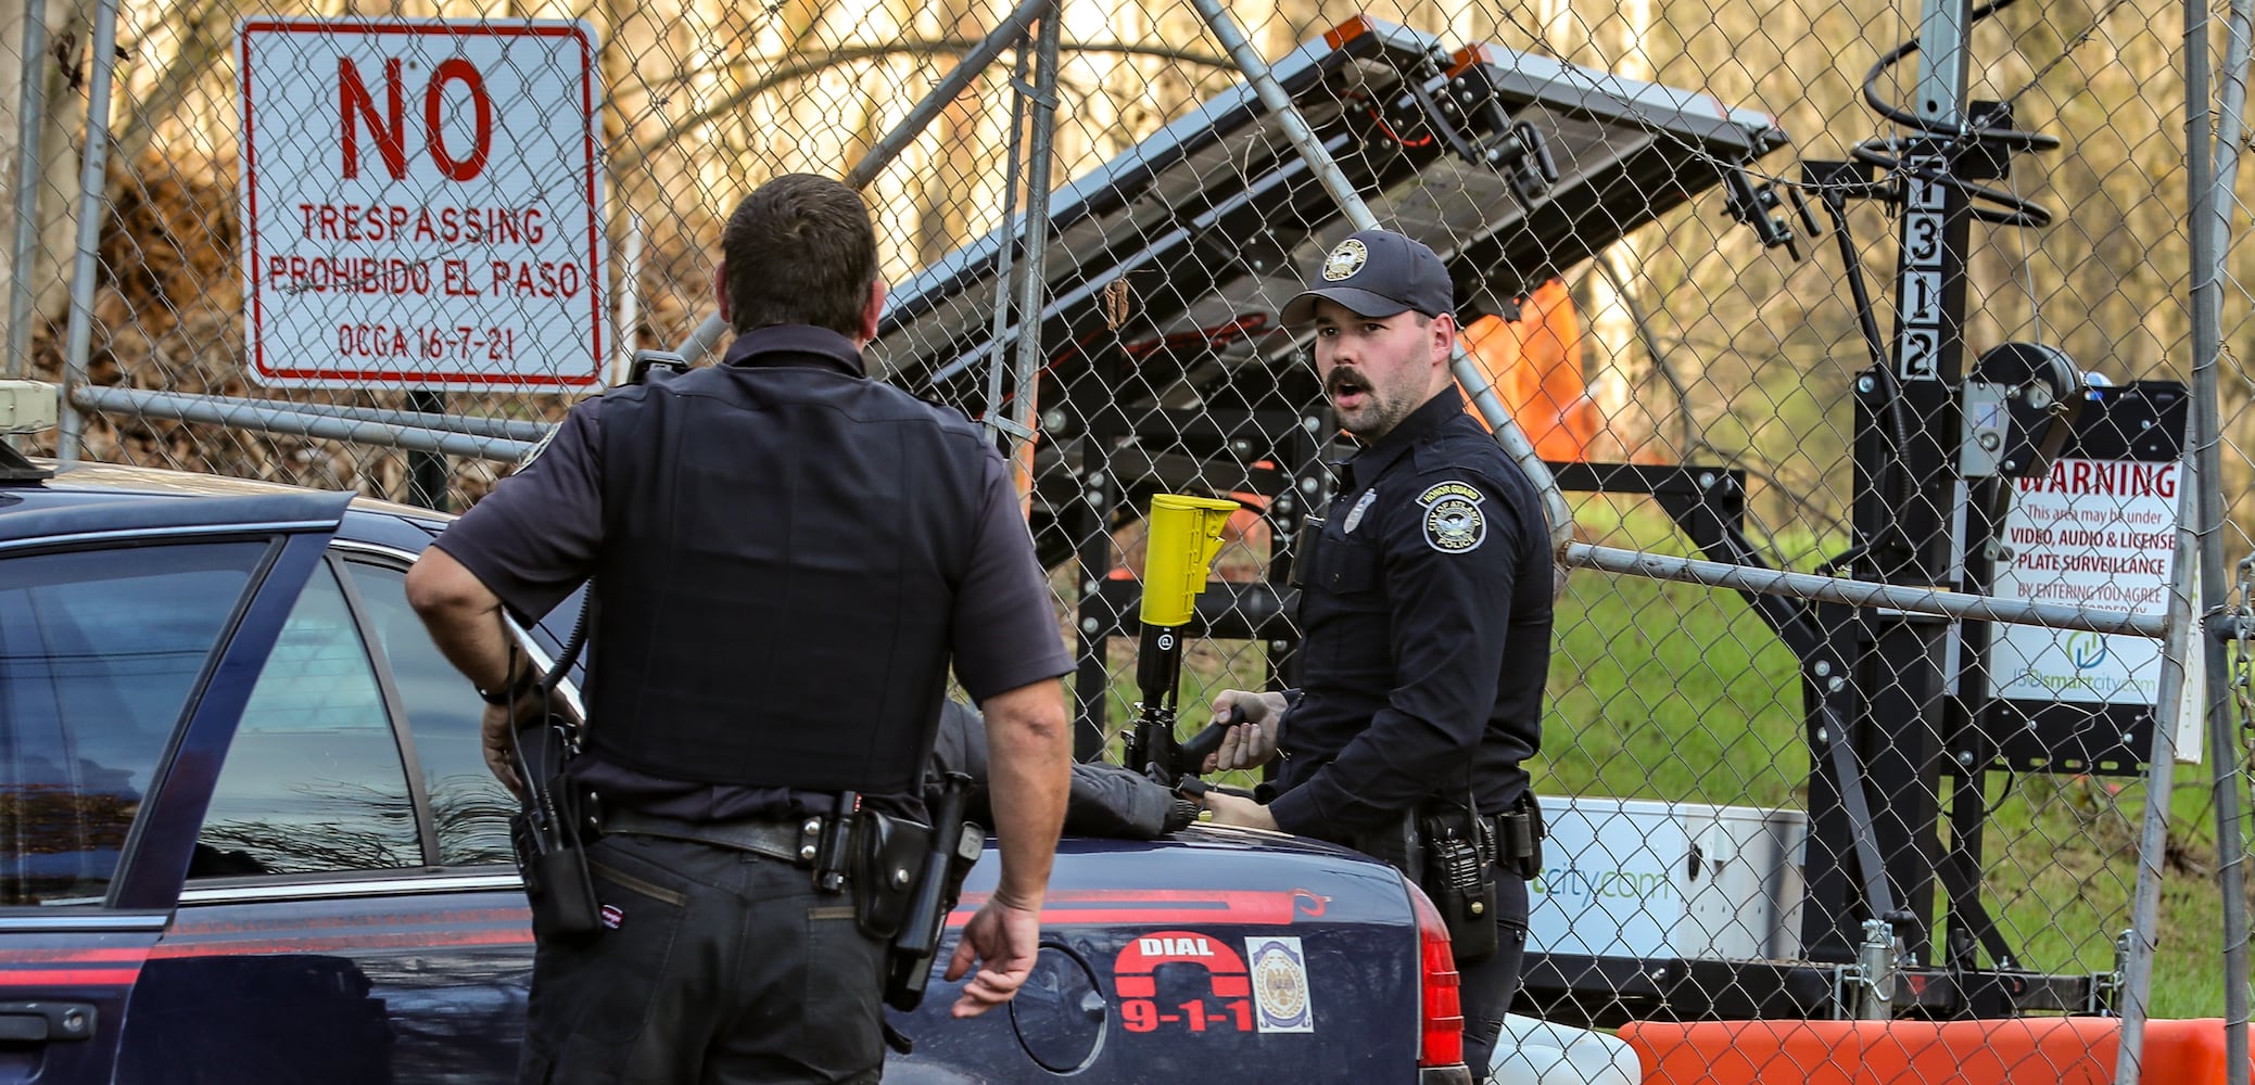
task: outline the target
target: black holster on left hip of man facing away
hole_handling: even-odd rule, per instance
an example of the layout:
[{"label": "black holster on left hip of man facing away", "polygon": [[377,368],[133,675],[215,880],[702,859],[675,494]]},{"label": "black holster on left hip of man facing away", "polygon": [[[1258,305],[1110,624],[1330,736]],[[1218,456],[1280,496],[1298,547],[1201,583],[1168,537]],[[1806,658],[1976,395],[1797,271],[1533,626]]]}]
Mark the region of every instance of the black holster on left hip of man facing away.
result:
[{"label": "black holster on left hip of man facing away", "polygon": [[[525,882],[525,902],[532,905],[532,936],[543,943],[586,943],[602,934],[602,905],[595,900],[582,839],[595,817],[584,792],[561,774],[571,756],[568,729],[568,722],[550,717],[519,731],[519,751],[534,744],[541,756],[516,758],[528,792],[510,814],[510,848]],[[530,765],[555,771],[534,776]]]}]

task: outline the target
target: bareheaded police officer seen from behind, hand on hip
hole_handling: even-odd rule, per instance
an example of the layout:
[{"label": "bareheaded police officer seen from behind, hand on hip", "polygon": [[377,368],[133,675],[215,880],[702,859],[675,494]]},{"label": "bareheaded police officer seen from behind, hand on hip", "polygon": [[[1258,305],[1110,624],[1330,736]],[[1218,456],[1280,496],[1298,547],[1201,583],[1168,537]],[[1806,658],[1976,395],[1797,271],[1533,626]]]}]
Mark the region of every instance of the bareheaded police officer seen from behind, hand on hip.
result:
[{"label": "bareheaded police officer seen from behind, hand on hip", "polygon": [[408,575],[512,787],[534,668],[503,611],[593,577],[571,771],[604,810],[609,929],[537,947],[528,1083],[877,1080],[886,945],[852,886],[816,884],[803,830],[846,792],[920,812],[949,661],[985,713],[1001,839],[945,972],[970,972],[954,1015],[1008,1002],[1037,954],[1073,661],[1008,469],[961,415],[868,379],[884,282],[859,194],[773,178],[722,255],[722,363],[575,406]]}]

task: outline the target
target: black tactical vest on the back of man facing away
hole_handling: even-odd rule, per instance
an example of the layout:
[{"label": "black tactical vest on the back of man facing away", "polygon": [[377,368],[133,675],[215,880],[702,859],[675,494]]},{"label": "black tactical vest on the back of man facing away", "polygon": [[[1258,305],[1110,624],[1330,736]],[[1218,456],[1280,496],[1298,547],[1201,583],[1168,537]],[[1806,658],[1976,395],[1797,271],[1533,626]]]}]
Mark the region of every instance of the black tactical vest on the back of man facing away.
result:
[{"label": "black tactical vest on the back of man facing away", "polygon": [[609,392],[591,744],[672,780],[913,792],[992,447],[830,356],[751,361]]}]

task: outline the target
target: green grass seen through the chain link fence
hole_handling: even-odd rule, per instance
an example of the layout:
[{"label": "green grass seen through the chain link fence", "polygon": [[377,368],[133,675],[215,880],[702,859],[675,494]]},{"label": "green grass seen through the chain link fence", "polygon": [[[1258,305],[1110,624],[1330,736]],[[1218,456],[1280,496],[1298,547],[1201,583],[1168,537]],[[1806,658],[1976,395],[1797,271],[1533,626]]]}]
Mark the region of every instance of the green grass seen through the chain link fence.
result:
[{"label": "green grass seen through the chain link fence", "polygon": [[[1653,512],[1592,501],[1578,521],[1608,546],[1687,544]],[[1786,539],[1799,555],[1824,553]],[[1114,713],[1130,720],[1132,645],[1114,650]],[[1261,645],[1193,643],[1184,663],[1182,735],[1206,699],[1258,688]],[[1739,596],[1694,584],[1576,571],[1558,605],[1542,753],[1542,794],[1806,808],[1797,665]],[[2181,765],[2172,796],[2160,950],[2151,1013],[2223,1013],[2223,902],[2212,875],[2210,769]],[[1249,780],[1233,780],[1249,783]],[[2106,972],[2135,889],[2142,778],[1991,774],[1984,900],[2023,968]]]}]

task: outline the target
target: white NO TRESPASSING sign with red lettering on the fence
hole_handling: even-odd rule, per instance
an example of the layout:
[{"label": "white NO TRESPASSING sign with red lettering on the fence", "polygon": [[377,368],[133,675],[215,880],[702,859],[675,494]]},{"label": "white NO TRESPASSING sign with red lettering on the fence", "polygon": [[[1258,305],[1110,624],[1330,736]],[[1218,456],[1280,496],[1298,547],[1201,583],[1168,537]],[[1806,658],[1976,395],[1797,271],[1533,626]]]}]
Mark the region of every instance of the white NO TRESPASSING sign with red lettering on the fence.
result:
[{"label": "white NO TRESPASSING sign with red lettering on the fence", "polygon": [[600,381],[586,23],[250,20],[239,50],[257,383]]}]

